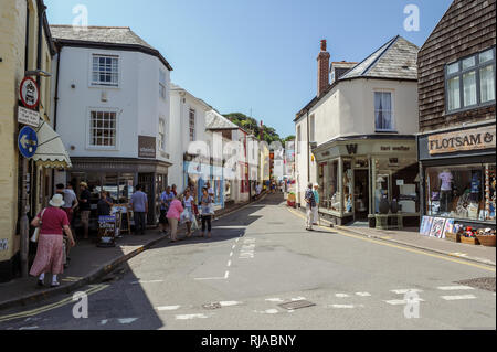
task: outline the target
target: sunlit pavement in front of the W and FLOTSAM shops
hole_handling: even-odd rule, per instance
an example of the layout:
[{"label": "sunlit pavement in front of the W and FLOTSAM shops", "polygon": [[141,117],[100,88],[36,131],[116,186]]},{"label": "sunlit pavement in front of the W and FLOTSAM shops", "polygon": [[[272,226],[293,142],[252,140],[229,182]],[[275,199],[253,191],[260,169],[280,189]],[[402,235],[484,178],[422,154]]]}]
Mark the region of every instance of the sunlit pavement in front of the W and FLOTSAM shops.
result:
[{"label": "sunlit pavement in front of the W and FLOTSAM shops", "polygon": [[[304,212],[303,209],[297,210]],[[329,226],[331,223],[321,218],[321,225]],[[496,248],[482,245],[468,245],[464,243],[450,242],[435,237],[422,236],[417,228],[405,228],[404,231],[377,230],[359,226],[338,226],[334,228],[342,232],[361,235],[368,238],[385,241],[412,248],[429,250],[451,257],[464,258],[480,264],[496,266]]]}]

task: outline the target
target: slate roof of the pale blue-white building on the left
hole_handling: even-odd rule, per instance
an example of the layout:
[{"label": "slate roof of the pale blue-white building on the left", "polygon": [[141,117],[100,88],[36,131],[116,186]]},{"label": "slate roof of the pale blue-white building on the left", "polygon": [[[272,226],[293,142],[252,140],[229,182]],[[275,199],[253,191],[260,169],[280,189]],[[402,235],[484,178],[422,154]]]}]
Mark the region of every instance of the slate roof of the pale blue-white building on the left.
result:
[{"label": "slate roof of the pale blue-white building on the left", "polygon": [[67,43],[86,43],[88,45],[109,45],[114,47],[136,47],[146,53],[158,56],[166,66],[172,71],[172,67],[163,58],[158,50],[138,36],[129,26],[96,26],[89,25],[87,30],[80,29],[76,31],[73,25],[51,24],[50,30],[55,42]]}]

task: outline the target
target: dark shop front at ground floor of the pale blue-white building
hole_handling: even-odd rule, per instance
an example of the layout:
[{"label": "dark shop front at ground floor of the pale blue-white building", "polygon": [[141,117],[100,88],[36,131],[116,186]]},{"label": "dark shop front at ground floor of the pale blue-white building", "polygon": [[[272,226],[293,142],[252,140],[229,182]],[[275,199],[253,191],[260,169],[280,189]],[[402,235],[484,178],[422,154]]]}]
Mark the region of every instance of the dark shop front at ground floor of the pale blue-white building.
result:
[{"label": "dark shop front at ground floor of the pale blue-white building", "polygon": [[[102,191],[107,191],[114,204],[128,204],[140,184],[148,195],[147,225],[156,226],[160,215],[160,193],[168,180],[169,163],[123,158],[72,158],[73,168],[66,181],[80,194],[80,182],[88,184],[91,200],[91,230],[98,226],[97,203]],[[133,222],[133,221],[131,221]]]}]

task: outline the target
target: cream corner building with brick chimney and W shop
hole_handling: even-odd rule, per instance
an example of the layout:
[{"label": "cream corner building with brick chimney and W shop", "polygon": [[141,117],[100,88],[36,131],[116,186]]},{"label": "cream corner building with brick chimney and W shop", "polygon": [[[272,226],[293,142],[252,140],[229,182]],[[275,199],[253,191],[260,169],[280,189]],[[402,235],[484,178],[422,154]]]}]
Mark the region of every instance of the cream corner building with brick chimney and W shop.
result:
[{"label": "cream corner building with brick chimney and W shop", "polygon": [[318,94],[294,120],[300,206],[307,183],[318,182],[320,211],[339,224],[368,220],[382,198],[419,215],[417,50],[395,36],[349,71],[331,65],[329,84],[324,43]]}]

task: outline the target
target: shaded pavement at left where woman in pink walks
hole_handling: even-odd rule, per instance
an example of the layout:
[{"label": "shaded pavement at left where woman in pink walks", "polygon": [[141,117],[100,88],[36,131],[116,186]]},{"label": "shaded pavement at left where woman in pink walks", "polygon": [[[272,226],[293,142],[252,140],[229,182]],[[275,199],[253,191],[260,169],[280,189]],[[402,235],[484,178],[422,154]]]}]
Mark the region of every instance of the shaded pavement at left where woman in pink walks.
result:
[{"label": "shaded pavement at left where woman in pink walks", "polygon": [[[264,199],[263,194],[260,200]],[[258,200],[257,200],[258,201]],[[255,201],[255,202],[257,202]],[[251,202],[233,204],[215,213],[215,217],[225,216],[235,212]],[[184,225],[178,230],[178,235],[184,235]],[[14,306],[25,306],[59,294],[70,294],[80,287],[95,282],[113,271],[121,263],[152,247],[161,241],[169,241],[167,236],[159,234],[158,228],[148,230],[145,235],[136,236],[124,234],[117,238],[116,247],[99,248],[95,243],[85,239],[76,239],[76,246],[71,249],[71,263],[59,278],[61,286],[57,288],[36,287],[36,278],[18,278],[10,282],[0,284],[0,310]],[[51,276],[45,278],[50,282]],[[46,284],[45,284],[46,285]]]}]

